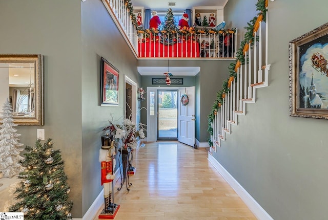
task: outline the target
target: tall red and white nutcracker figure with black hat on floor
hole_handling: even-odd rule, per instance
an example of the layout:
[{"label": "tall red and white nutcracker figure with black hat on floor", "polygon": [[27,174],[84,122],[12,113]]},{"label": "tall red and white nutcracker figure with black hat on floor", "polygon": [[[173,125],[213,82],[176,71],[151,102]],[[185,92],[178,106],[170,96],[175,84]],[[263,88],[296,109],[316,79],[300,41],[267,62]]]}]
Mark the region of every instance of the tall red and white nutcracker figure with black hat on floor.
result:
[{"label": "tall red and white nutcracker figure with black hat on floor", "polygon": [[99,218],[108,218],[107,215],[115,216],[119,205],[114,204],[113,181],[115,174],[115,147],[114,137],[105,135],[101,137],[101,149],[99,150],[99,162],[101,166],[101,185],[104,186],[104,210],[100,213]]}]

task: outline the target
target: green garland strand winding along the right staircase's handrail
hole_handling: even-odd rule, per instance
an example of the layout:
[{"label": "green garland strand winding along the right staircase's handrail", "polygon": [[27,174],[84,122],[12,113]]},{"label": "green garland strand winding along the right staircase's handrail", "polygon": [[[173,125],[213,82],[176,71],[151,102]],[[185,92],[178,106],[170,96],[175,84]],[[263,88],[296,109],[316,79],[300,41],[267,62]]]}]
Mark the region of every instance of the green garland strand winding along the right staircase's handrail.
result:
[{"label": "green garland strand winding along the right staircase's handrail", "polygon": [[[258,0],[258,2],[256,3],[256,10],[260,11],[257,15],[258,16],[262,15],[263,16],[262,20],[265,22],[265,18],[266,18],[267,11],[268,11],[268,9],[265,8],[265,0]],[[250,43],[251,49],[254,46],[254,40],[253,40],[254,31],[253,30],[254,30],[254,25],[256,23],[258,16],[254,17],[252,20],[250,20],[250,22],[247,23],[247,27],[244,27],[246,32],[244,34],[244,39],[240,42],[240,48],[237,50],[236,61],[230,63],[229,67],[228,67],[230,77],[234,77],[234,78],[237,77],[237,72],[235,71],[235,69],[236,69],[236,65],[238,62],[240,62],[240,64],[242,64],[242,65],[245,64],[245,62],[248,62],[248,60],[245,60],[243,49],[244,49],[245,45],[248,43]],[[257,37],[256,41],[258,41],[258,37]],[[208,115],[208,131],[210,133],[210,137],[208,137],[208,143],[209,143],[210,147],[213,146],[213,142],[211,141],[211,136],[213,136],[212,123],[214,120],[215,112],[219,111],[219,108],[220,108],[219,105],[221,105],[223,103],[223,98],[222,98],[223,94],[230,91],[229,86],[228,86],[228,84],[229,84],[228,81],[229,81],[229,78],[223,81],[222,89],[217,92],[216,100],[214,101],[214,104],[211,108],[210,114]]]}]

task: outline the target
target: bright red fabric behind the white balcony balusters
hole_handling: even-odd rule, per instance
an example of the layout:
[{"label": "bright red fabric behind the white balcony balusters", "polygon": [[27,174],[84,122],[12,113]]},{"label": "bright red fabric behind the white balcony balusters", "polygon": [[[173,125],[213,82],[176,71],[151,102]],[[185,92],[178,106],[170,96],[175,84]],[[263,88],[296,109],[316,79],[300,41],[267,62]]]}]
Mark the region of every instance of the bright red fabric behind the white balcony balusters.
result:
[{"label": "bright red fabric behind the white balcony balusters", "polygon": [[185,41],[174,45],[163,45],[158,41],[138,44],[139,57],[199,57],[199,43]]}]

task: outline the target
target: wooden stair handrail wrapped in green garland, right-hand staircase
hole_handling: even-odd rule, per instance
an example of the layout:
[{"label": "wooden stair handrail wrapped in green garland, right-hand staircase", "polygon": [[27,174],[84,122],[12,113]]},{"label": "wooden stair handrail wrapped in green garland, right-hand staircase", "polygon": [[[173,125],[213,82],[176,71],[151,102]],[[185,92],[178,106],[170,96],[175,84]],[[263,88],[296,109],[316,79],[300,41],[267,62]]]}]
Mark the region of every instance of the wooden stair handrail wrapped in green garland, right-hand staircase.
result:
[{"label": "wooden stair handrail wrapped in green garland, right-hand staircase", "polygon": [[[228,69],[229,69],[229,76],[230,78],[223,81],[222,89],[217,92],[217,99],[215,100],[211,112],[208,115],[208,131],[210,133],[210,137],[208,138],[208,142],[210,147],[213,146],[213,142],[211,141],[211,136],[213,136],[213,120],[214,116],[219,111],[219,108],[221,107],[221,104],[223,103],[223,98],[226,97],[226,93],[230,91],[230,85],[231,82],[234,80],[235,77],[237,77],[237,70],[240,67],[241,64],[244,64],[245,61],[245,52],[249,50],[249,47],[251,45],[251,49],[254,45],[253,38],[254,33],[257,32],[259,28],[260,21],[265,22],[265,18],[268,11],[268,0],[258,0],[256,3],[256,10],[260,11],[256,16],[254,17],[249,23],[247,23],[247,27],[244,27],[246,30],[244,34],[244,39],[240,42],[240,48],[237,50],[236,54],[236,61],[230,63]],[[258,40],[258,39],[256,39]]]}]

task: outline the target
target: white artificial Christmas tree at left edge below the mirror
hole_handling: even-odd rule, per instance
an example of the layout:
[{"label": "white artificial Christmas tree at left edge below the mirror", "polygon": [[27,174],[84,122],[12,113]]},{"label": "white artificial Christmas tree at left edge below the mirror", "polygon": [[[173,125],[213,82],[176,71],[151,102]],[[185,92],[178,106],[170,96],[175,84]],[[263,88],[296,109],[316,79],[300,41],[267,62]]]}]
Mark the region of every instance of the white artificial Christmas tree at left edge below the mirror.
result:
[{"label": "white artificial Christmas tree at left edge below the mirror", "polygon": [[0,177],[12,178],[14,175],[23,171],[25,167],[19,163],[24,158],[20,156],[20,152],[24,150],[20,148],[24,144],[18,143],[17,124],[13,123],[12,108],[8,99],[3,106],[2,125],[0,125]]}]

